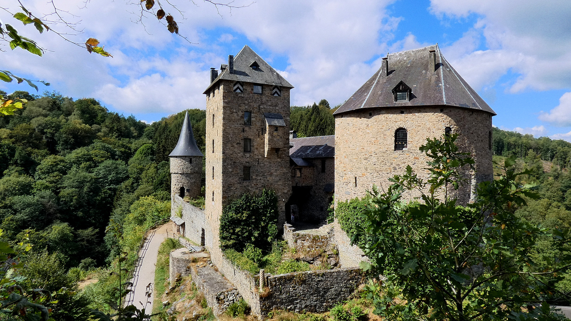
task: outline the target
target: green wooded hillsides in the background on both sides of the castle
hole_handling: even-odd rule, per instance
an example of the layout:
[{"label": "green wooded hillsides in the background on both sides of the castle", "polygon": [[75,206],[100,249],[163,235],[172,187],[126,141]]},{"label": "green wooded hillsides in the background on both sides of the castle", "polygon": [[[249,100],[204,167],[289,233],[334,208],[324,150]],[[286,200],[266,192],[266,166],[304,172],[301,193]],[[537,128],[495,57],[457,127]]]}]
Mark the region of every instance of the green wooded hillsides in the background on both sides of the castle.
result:
[{"label": "green wooded hillsides in the background on both sides of the castle", "polygon": [[[0,117],[0,242],[19,253],[27,288],[56,292],[54,320],[87,320],[91,308],[109,311],[144,231],[170,216],[168,154],[184,111],[148,125],[93,98],[25,91],[7,97],[29,102]],[[298,137],[333,135],[334,110],[325,99],[292,106],[291,129]],[[204,153],[205,111],[188,112]],[[498,161],[516,155],[517,166],[531,170],[521,182],[538,186],[541,198],[530,199],[517,215],[571,228],[571,143],[494,129],[493,151]],[[359,200],[349,204],[353,213],[363,209]],[[351,217],[345,224],[350,235],[359,223]],[[549,244],[537,251],[549,254]],[[86,277],[97,282],[79,290]],[[571,275],[564,274],[558,287],[571,290]],[[57,292],[61,288],[67,290]]]}]

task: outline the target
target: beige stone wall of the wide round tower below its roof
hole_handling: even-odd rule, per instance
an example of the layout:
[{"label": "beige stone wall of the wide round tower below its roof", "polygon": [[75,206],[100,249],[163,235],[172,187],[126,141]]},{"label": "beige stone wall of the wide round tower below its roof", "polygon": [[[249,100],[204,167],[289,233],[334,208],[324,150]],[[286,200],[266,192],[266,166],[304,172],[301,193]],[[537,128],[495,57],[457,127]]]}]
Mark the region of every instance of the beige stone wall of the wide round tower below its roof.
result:
[{"label": "beige stone wall of the wide round tower below its roof", "polygon": [[[443,137],[447,126],[460,134],[457,144],[461,150],[472,153],[476,160],[476,172],[465,173],[468,183],[458,192],[460,203],[469,202],[475,185],[493,177],[488,147],[492,114],[451,106],[384,107],[336,115],[335,202],[363,197],[373,184],[386,189],[388,178],[403,173],[407,165],[427,179],[427,157],[419,147],[427,138]],[[408,149],[395,151],[394,135],[400,127],[408,131]],[[419,193],[409,192],[405,198],[415,196]]]}]

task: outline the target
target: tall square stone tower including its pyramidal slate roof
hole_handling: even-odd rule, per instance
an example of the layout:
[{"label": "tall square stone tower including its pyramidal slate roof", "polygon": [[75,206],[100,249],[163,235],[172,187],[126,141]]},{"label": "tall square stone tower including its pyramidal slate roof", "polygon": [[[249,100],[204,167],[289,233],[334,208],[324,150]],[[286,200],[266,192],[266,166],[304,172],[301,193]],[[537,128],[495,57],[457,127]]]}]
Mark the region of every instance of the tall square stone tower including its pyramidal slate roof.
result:
[{"label": "tall square stone tower including its pyramidal slate roof", "polygon": [[278,223],[285,222],[291,194],[289,172],[289,82],[244,46],[220,74],[211,69],[206,94],[206,246],[221,258],[220,215],[244,193],[276,192]]}]

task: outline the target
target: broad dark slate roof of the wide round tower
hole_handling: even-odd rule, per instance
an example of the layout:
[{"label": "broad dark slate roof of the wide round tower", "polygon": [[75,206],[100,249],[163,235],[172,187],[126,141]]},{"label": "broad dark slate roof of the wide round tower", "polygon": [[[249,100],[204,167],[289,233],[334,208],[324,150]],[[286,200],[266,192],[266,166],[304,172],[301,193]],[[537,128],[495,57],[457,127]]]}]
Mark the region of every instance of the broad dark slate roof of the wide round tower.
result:
[{"label": "broad dark slate roof of the wide round tower", "polygon": [[[430,50],[436,51],[436,71],[428,72]],[[444,58],[438,45],[388,55],[388,76],[379,69],[333,113],[375,107],[447,105],[484,110],[496,115]],[[408,102],[395,102],[392,89],[403,81],[412,90]]]}]

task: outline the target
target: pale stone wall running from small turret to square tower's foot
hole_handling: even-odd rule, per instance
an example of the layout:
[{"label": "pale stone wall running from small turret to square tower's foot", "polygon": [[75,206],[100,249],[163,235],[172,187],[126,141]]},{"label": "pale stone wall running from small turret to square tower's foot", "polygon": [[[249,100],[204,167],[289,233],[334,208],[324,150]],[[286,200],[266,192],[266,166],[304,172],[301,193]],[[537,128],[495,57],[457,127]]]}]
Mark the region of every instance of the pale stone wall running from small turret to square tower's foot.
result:
[{"label": "pale stone wall running from small turret to square tower's foot", "polygon": [[203,231],[204,238],[211,234],[210,228],[206,225],[204,211],[184,202],[178,194],[174,194],[171,198],[171,216],[176,216],[179,208],[182,210],[182,219],[184,220],[184,236],[192,242],[204,246]]}]

